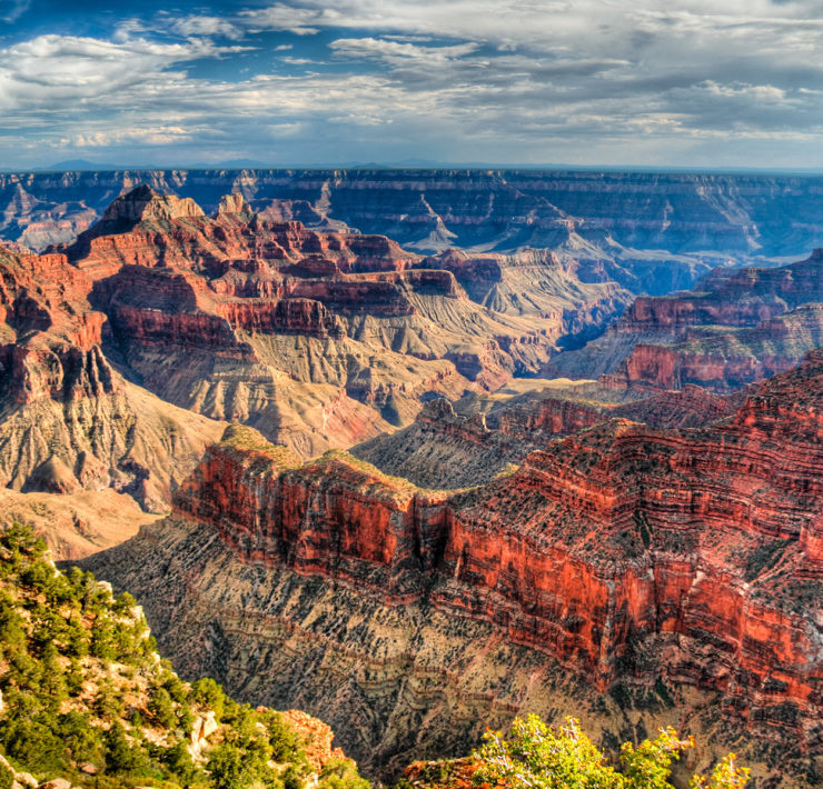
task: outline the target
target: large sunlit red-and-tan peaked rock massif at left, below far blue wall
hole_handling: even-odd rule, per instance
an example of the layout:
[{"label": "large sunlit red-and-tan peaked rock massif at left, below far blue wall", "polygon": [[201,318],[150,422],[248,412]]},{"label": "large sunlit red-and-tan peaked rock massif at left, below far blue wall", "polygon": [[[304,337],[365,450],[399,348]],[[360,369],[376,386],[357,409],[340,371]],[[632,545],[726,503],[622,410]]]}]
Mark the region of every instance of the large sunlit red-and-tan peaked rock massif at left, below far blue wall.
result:
[{"label": "large sunlit red-and-tan peaked rock massif at left, below far blue wall", "polygon": [[[489,256],[489,288],[523,266]],[[506,288],[533,301],[496,311],[467,298],[448,260],[385,237],[260,218],[240,194],[207,217],[138,187],[69,247],[0,252],[0,482],[112,488],[161,511],[219,420],[304,457],[348,447],[426,399],[537,371],[628,300],[551,256],[527,272]]]}]

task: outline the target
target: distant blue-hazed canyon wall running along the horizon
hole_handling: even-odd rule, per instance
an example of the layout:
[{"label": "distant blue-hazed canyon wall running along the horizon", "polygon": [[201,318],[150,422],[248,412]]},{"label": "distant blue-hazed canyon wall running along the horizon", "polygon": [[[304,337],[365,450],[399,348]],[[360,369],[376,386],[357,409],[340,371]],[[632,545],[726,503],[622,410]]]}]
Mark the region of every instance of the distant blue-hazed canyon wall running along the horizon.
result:
[{"label": "distant blue-hazed canyon wall running along the horizon", "polygon": [[71,241],[120,193],[148,183],[206,211],[239,192],[275,221],[347,226],[425,252],[552,249],[589,281],[690,288],[711,264],[823,244],[819,177],[596,171],[138,170],[0,173],[2,238]]}]

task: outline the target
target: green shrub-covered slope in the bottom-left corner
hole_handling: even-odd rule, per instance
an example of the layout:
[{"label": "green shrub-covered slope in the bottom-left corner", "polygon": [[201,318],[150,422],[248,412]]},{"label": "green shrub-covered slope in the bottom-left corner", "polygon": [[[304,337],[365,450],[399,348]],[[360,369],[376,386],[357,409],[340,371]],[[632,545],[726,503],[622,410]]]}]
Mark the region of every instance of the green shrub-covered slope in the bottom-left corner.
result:
[{"label": "green shrub-covered slope in the bottom-left corner", "polygon": [[[156,652],[128,593],[49,561],[28,528],[0,532],[0,751],[20,771],[75,786],[120,789],[303,787],[311,773],[304,743],[286,720],[227,697],[212,679],[182,682]],[[202,755],[192,725],[219,726]],[[89,762],[92,778],[79,769]],[[318,787],[367,789],[351,762]],[[326,775],[328,772],[328,775]],[[0,771],[0,787],[8,778]],[[7,781],[8,782],[8,781]]]}]

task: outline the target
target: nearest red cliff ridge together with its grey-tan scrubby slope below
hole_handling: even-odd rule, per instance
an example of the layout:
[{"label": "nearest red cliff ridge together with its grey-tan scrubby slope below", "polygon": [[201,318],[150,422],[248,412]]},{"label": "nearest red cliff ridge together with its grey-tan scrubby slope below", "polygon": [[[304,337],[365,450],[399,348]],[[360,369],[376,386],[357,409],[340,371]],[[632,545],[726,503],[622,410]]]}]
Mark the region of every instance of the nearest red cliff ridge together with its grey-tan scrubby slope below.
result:
[{"label": "nearest red cliff ridge together with its grey-tan scrubby slope below", "polygon": [[718,745],[745,730],[774,786],[811,786],[821,406],[817,351],[732,418],[601,422],[452,495],[232,428],[171,519],[91,563],[142,598],[184,671],[321,713],[373,769],[527,709]]}]

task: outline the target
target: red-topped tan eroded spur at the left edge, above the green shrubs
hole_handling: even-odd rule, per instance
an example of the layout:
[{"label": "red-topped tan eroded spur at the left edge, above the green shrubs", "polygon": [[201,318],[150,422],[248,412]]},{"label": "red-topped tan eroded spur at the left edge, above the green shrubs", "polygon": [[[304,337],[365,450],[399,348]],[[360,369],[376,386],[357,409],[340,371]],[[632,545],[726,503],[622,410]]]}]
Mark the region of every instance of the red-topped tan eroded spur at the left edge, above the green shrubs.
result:
[{"label": "red-topped tan eroded spur at the left edge, above the green shrubs", "polygon": [[0,249],[0,485],[52,493],[110,487],[162,511],[224,426],[112,369],[91,287],[63,256]]}]

